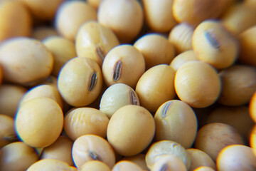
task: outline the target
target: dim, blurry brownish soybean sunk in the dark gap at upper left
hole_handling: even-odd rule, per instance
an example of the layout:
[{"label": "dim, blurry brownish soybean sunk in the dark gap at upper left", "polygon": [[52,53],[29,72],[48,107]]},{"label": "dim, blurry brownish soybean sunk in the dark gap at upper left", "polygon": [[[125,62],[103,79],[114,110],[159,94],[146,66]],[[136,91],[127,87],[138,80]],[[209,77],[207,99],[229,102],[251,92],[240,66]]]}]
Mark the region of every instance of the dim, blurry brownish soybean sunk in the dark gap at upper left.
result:
[{"label": "dim, blurry brownish soybean sunk in the dark gap at upper left", "polygon": [[58,36],[58,32],[51,26],[37,26],[33,28],[31,37],[43,41],[43,39],[49,36]]}]

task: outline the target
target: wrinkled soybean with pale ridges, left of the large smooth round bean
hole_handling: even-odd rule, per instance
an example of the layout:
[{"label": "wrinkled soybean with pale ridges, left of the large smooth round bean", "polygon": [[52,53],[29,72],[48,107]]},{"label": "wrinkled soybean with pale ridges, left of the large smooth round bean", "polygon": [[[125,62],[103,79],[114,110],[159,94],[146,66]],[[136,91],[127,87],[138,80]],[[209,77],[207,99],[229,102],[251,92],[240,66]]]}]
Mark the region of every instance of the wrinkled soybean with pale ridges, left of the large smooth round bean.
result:
[{"label": "wrinkled soybean with pale ridges, left of the large smooth round bean", "polygon": [[76,140],[82,135],[93,134],[107,137],[109,118],[95,108],[73,108],[65,114],[64,130],[69,138]]}]

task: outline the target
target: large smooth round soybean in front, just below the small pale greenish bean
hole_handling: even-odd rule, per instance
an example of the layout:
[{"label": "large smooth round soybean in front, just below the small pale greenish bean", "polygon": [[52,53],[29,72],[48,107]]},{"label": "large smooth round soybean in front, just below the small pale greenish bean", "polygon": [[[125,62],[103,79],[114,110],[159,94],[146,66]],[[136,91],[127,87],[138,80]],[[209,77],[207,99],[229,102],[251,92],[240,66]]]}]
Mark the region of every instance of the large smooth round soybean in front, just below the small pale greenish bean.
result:
[{"label": "large smooth round soybean in front, just below the small pale greenish bean", "polygon": [[142,152],[154,138],[155,123],[151,113],[139,105],[124,105],[110,118],[107,140],[119,155]]}]

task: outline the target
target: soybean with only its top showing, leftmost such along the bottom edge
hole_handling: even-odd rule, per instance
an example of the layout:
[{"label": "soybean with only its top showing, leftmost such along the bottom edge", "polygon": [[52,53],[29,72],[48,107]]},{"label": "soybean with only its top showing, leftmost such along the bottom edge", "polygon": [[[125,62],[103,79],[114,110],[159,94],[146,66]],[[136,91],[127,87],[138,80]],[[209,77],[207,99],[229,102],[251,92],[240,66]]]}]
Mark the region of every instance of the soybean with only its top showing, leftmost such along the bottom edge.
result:
[{"label": "soybean with only its top showing, leftmost such along the bottom edge", "polygon": [[28,167],[27,171],[49,171],[49,170],[66,170],[66,171],[76,171],[77,168],[70,167],[68,163],[57,159],[42,159],[38,162],[33,163]]}]

